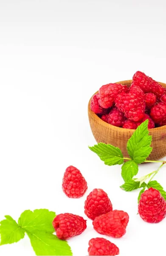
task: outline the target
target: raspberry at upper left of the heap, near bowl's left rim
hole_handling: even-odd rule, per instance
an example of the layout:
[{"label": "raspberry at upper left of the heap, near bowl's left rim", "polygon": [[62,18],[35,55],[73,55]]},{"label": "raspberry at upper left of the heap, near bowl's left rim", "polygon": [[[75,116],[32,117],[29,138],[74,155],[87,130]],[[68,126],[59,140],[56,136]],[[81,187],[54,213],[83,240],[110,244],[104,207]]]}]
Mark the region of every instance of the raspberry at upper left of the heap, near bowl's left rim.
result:
[{"label": "raspberry at upper left of the heap, near bowl's left rim", "polygon": [[98,103],[102,108],[110,108],[114,104],[115,97],[127,89],[126,85],[122,84],[105,84],[98,90]]}]

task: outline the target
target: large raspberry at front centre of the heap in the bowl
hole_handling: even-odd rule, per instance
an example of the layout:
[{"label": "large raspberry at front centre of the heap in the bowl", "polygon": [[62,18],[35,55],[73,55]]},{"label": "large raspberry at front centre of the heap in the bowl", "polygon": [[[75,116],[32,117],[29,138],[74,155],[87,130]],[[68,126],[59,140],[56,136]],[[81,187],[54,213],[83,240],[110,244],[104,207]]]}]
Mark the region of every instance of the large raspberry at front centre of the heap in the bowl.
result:
[{"label": "large raspberry at front centre of the heap in the bowl", "polygon": [[144,94],[136,86],[132,86],[129,93],[122,92],[118,94],[115,99],[115,105],[125,114],[127,119],[131,119],[134,122],[140,121],[145,113]]}]

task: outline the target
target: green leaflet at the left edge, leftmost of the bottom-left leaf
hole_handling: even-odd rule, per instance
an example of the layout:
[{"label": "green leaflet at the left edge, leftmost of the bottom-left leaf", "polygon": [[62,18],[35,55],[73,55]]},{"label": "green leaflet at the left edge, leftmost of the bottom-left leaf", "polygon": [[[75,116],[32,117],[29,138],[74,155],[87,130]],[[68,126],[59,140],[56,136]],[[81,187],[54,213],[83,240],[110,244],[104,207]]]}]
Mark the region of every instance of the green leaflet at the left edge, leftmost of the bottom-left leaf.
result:
[{"label": "green leaflet at the left edge, leftmost of the bottom-left leaf", "polygon": [[18,242],[25,235],[24,231],[11,216],[6,215],[5,218],[6,220],[0,221],[0,245]]}]

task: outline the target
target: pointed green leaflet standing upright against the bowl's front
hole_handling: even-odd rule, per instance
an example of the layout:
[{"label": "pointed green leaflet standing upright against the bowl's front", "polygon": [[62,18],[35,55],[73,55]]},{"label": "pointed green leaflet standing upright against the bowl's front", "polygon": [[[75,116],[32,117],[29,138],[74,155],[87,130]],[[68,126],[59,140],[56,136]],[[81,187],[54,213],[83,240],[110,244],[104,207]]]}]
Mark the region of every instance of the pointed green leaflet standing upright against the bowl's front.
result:
[{"label": "pointed green leaflet standing upright against the bowl's front", "polygon": [[151,142],[152,136],[149,135],[147,119],[138,126],[127,142],[129,156],[136,163],[143,163],[152,151]]}]

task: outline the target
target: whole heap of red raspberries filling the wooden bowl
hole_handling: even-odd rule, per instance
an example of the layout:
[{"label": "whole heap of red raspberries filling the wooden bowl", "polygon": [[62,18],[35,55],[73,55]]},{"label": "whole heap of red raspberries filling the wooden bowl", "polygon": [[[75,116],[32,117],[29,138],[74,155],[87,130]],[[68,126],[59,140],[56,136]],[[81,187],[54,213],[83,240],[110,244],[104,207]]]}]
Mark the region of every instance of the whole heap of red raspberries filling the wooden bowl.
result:
[{"label": "whole heap of red raspberries filling the wooden bowl", "polygon": [[91,110],[104,122],[126,129],[136,129],[149,119],[148,128],[166,125],[166,88],[137,71],[130,87],[105,84],[90,102]]}]

